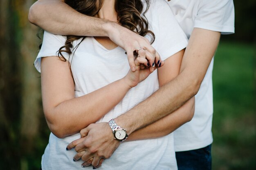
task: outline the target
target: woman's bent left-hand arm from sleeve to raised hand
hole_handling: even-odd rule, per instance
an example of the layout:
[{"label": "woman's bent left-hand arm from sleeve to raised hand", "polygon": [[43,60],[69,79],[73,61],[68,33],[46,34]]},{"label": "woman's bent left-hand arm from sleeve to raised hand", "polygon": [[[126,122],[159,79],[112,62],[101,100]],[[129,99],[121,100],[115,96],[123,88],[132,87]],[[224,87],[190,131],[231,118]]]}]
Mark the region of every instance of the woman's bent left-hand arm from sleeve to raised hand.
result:
[{"label": "woman's bent left-hand arm from sleeve to raised hand", "polygon": [[149,68],[139,71],[140,64],[147,62],[139,57],[135,59],[135,72],[130,70],[124,78],[75,98],[68,62],[57,56],[41,58],[43,109],[49,129],[63,138],[98,121],[124,98],[130,88],[151,73]]}]

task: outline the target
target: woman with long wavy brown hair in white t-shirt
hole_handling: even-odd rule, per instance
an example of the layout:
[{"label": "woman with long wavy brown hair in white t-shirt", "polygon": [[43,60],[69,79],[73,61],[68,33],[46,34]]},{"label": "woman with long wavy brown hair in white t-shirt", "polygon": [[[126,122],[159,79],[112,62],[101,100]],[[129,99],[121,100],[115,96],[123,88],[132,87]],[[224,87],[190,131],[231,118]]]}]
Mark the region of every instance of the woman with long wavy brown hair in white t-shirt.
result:
[{"label": "woman with long wavy brown hair in white t-shirt", "polygon": [[[52,132],[42,157],[43,170],[81,168],[83,161],[73,161],[76,152],[67,151],[67,144],[79,139],[79,131],[90,123],[110,121],[177,76],[187,45],[184,32],[164,1],[152,0],[149,8],[148,0],[65,2],[80,13],[134,30],[152,41],[165,61],[148,63],[143,57],[147,51],[138,47],[137,70],[132,72],[125,51],[108,38],[59,36],[45,31],[34,63],[41,72],[43,108]],[[150,74],[150,69],[163,63]],[[146,140],[121,143],[100,169],[177,169],[173,134],[153,137],[148,134]]]}]

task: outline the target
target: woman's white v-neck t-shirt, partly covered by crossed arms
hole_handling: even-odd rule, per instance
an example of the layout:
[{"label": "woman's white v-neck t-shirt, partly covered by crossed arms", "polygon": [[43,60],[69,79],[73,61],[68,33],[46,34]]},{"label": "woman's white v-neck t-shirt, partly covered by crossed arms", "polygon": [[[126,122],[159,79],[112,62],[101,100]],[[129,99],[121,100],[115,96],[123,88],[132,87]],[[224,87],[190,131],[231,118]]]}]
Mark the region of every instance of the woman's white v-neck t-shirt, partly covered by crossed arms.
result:
[{"label": "woman's white v-neck t-shirt, partly covered by crossed arms", "polygon": [[[153,0],[146,17],[150,29],[156,37],[153,47],[157,49],[163,60],[186,47],[188,41],[186,35],[166,2]],[[56,51],[64,45],[65,40],[65,36],[54,35],[45,31],[42,48],[34,63],[39,72],[41,58],[56,56]],[[81,39],[74,41],[74,47],[80,41]],[[68,60],[69,55],[64,54],[64,57]],[[116,47],[108,50],[93,37],[86,37],[76,49],[72,60],[75,97],[83,96],[123,78],[129,69],[124,49]],[[158,76],[155,71],[145,81],[130,89],[124,99],[98,122],[108,122],[110,119],[125,113],[137,103],[148,98],[158,88]],[[83,161],[74,162],[73,157],[76,152],[65,149],[70,142],[79,138],[80,134],[74,134],[59,139],[51,133],[49,143],[42,157],[42,169],[80,169]],[[84,169],[91,170],[92,167]],[[99,169],[175,170],[177,169],[177,163],[173,134],[157,139],[121,143],[110,159],[106,159]]]}]

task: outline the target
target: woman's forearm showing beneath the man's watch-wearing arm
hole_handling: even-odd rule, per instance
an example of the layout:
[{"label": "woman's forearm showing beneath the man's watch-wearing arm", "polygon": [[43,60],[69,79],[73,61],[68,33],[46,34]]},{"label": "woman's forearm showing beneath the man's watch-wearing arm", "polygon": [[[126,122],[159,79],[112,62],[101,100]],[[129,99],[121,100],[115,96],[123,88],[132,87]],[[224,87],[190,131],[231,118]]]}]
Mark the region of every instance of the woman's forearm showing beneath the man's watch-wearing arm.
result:
[{"label": "woman's forearm showing beneath the man's watch-wearing arm", "polygon": [[126,141],[153,139],[166,136],[179,128],[184,123],[191,121],[195,111],[195,97],[191,98],[179,109],[162,119],[136,130],[129,135]]}]

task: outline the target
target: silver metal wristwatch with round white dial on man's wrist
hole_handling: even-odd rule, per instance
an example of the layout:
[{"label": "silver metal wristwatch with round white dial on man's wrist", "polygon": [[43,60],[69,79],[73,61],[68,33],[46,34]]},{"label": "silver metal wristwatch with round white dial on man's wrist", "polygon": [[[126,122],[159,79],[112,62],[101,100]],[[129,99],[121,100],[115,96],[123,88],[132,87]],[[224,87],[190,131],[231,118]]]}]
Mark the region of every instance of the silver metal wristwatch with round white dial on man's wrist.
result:
[{"label": "silver metal wristwatch with round white dial on man's wrist", "polygon": [[113,131],[114,134],[114,138],[117,141],[124,141],[126,140],[126,138],[128,138],[128,134],[126,132],[126,130],[124,128],[121,128],[120,126],[117,125],[117,123],[115,123],[115,121],[113,119],[111,119],[108,124],[110,125],[110,128]]}]

